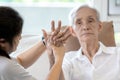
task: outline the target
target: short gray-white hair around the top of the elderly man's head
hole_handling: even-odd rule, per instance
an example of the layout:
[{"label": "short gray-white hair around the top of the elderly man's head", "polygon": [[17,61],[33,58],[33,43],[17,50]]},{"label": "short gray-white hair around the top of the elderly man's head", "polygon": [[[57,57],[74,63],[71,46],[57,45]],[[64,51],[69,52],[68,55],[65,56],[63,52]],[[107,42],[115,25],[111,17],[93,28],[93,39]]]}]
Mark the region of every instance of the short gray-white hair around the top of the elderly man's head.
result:
[{"label": "short gray-white hair around the top of the elderly man's head", "polygon": [[82,5],[82,6],[75,7],[70,11],[70,13],[69,13],[69,23],[70,23],[71,26],[74,25],[74,18],[75,18],[76,13],[82,8],[90,8],[91,10],[93,10],[96,13],[97,20],[100,21],[99,12],[95,8],[90,7],[88,5]]}]

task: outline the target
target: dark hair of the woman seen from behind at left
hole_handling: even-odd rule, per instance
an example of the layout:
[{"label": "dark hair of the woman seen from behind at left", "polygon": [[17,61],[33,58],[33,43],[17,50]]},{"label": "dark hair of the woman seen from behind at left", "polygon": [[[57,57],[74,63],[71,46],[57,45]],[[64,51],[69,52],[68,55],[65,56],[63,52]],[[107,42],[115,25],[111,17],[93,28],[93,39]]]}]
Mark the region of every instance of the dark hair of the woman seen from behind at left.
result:
[{"label": "dark hair of the woman seen from behind at left", "polygon": [[[0,6],[0,39],[4,39],[11,47],[13,39],[22,32],[23,19],[17,11],[10,7]],[[10,58],[9,54],[0,48],[0,55]]]}]

